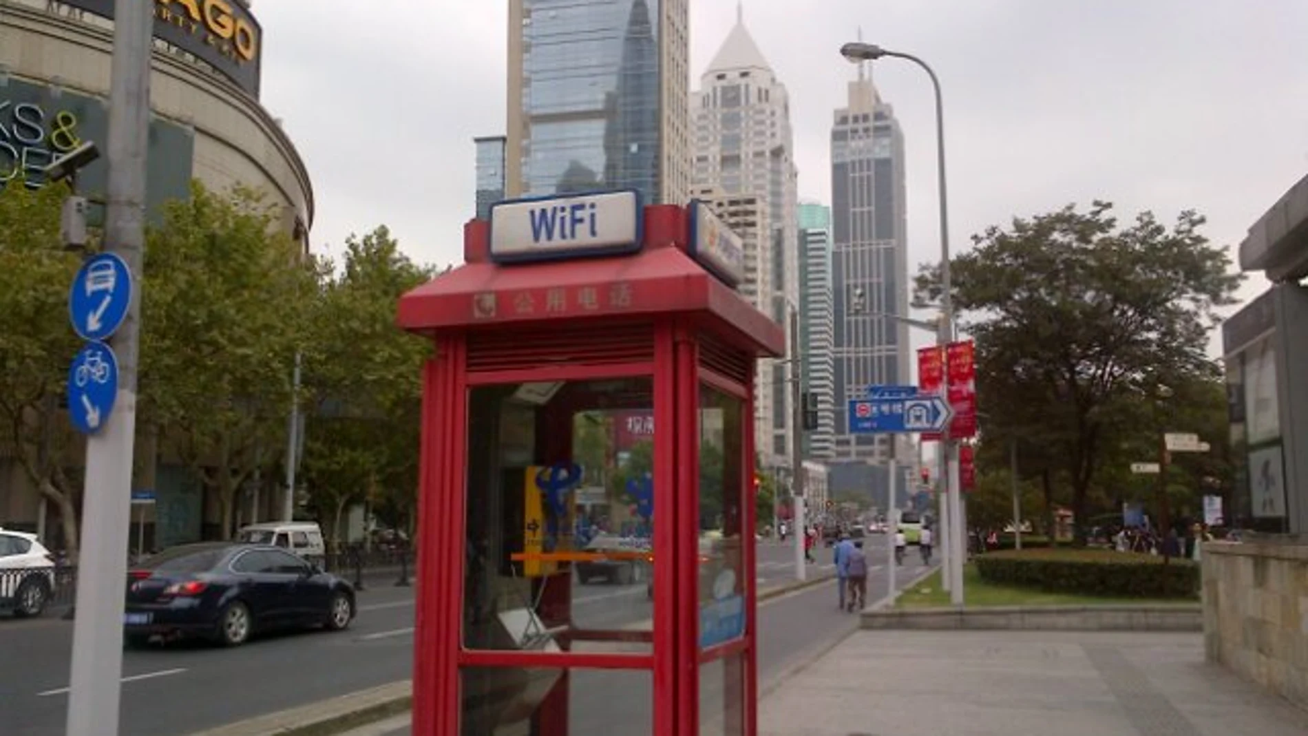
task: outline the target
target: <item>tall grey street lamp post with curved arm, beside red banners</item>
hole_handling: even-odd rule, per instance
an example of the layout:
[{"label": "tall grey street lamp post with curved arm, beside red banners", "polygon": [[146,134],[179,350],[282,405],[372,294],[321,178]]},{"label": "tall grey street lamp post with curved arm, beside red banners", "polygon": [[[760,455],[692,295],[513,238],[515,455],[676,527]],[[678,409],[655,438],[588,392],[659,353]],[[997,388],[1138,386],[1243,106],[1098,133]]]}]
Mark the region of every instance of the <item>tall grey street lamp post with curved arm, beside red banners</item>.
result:
[{"label": "tall grey street lamp post with curved arm, beside red banners", "polygon": [[[944,186],[944,106],[940,99],[940,80],[935,76],[935,71],[931,67],[913,56],[912,54],[905,54],[903,51],[891,51],[888,48],[882,48],[875,43],[846,43],[840,47],[840,54],[853,63],[859,61],[875,61],[883,56],[891,56],[895,59],[905,59],[921,67],[929,77],[931,77],[931,89],[935,93],[935,165],[937,165],[937,178],[940,192],[940,323],[937,332],[937,343],[943,350],[954,340],[954,289],[950,278],[950,207],[948,195]],[[944,383],[942,384],[942,391],[946,397],[948,397],[948,370],[944,371]],[[947,469],[944,476],[946,484],[946,497],[950,506],[950,518],[954,519],[954,529],[951,529],[954,537],[951,546],[951,554],[954,554],[954,563],[950,565],[950,577],[952,578],[952,584],[950,586],[950,600],[956,607],[963,605],[963,561],[965,560],[964,550],[967,549],[967,531],[960,523],[963,520],[963,502],[959,497],[959,443],[950,437],[948,427],[940,434],[940,446],[944,450],[944,467]]]}]

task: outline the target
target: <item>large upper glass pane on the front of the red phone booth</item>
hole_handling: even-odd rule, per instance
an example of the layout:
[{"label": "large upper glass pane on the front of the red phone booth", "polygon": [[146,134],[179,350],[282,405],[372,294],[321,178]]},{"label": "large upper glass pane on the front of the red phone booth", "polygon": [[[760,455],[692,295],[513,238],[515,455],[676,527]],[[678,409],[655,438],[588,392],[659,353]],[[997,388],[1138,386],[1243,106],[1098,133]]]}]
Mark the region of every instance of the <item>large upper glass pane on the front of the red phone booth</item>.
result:
[{"label": "large upper glass pane on the front of the red phone booth", "polygon": [[470,390],[466,648],[653,651],[653,408],[650,378]]}]

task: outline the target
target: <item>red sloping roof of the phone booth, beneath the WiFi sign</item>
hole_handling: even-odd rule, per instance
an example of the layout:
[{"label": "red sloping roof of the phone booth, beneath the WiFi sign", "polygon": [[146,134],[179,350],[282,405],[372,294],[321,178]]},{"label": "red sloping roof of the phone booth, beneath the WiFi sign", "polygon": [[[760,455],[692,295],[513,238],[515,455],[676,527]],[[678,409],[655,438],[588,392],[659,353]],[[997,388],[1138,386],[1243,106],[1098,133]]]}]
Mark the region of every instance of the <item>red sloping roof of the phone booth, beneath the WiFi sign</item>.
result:
[{"label": "red sloping roof of the phone booth, beneath the WiFi sign", "polygon": [[630,255],[531,264],[489,259],[489,224],[464,226],[464,265],[404,294],[398,324],[434,336],[555,320],[689,315],[755,356],[785,352],[785,331],[687,252],[685,210],[645,208],[644,241]]}]

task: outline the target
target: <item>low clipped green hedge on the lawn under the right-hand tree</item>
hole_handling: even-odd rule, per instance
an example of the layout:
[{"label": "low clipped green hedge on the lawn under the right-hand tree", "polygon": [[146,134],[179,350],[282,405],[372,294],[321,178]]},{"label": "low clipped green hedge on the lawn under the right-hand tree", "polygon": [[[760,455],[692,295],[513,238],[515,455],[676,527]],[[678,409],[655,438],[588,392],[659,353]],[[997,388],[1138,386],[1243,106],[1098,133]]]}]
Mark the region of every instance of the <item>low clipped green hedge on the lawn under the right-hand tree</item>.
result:
[{"label": "low clipped green hedge on the lawn under the right-hand tree", "polygon": [[994,552],[972,558],[988,583],[1046,592],[1104,597],[1188,597],[1199,595],[1199,566],[1190,560],[1163,558],[1107,549],[1031,549]]}]

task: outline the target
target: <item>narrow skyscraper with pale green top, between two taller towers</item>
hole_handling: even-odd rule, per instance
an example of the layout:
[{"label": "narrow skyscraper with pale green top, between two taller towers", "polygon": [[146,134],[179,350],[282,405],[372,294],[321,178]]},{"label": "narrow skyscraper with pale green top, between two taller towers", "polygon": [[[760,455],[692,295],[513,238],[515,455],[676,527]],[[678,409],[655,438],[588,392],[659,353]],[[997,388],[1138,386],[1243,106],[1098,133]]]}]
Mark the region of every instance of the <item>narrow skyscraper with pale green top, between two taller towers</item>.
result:
[{"label": "narrow skyscraper with pale green top, between two taller towers", "polygon": [[835,378],[831,299],[831,208],[799,205],[799,344],[803,346],[803,390],[818,400],[818,429],[804,435],[804,455],[836,455]]}]

